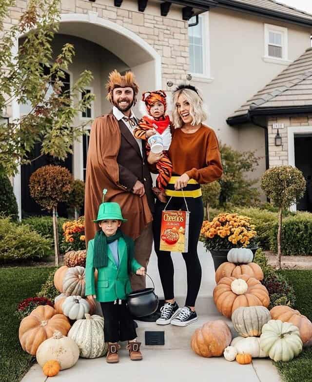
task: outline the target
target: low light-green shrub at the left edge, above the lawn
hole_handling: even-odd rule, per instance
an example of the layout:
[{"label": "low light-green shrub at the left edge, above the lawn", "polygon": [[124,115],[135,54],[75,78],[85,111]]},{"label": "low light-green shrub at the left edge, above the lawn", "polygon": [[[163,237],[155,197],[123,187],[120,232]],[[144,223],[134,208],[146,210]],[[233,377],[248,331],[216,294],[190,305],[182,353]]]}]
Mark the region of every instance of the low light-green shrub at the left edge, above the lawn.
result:
[{"label": "low light-green shrub at the left edge, above the lawn", "polygon": [[40,259],[51,254],[50,241],[29,225],[18,225],[0,218],[0,262]]}]

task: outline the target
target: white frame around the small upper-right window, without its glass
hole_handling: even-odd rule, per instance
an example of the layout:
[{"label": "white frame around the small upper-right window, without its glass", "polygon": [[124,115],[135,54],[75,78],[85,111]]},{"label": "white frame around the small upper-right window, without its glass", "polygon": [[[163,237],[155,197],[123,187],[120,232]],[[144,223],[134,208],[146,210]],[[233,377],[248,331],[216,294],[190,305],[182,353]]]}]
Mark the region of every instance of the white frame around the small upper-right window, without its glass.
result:
[{"label": "white frame around the small upper-right window, without its glass", "polygon": [[[269,36],[270,32],[280,33],[282,35],[282,57],[269,56]],[[273,24],[264,24],[264,56],[262,59],[265,62],[277,63],[282,65],[288,65],[291,60],[288,60],[288,29],[282,26]]]}]

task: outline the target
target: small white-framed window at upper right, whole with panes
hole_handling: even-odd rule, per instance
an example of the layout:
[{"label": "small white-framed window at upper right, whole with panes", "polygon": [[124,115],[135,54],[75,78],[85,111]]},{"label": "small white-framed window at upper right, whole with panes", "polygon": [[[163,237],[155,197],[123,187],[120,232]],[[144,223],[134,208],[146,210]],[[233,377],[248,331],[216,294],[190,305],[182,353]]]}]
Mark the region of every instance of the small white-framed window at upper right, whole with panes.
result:
[{"label": "small white-framed window at upper right, whole with panes", "polygon": [[264,59],[272,62],[288,62],[288,30],[280,26],[264,24]]}]

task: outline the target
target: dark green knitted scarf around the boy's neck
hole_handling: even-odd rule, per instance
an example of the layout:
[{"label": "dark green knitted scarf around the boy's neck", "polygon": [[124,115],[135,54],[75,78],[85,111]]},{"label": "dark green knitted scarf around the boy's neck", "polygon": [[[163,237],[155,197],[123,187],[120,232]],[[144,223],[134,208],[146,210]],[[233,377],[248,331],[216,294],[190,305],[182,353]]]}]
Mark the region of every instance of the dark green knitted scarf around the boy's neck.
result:
[{"label": "dark green knitted scarf around the boy's neck", "polygon": [[134,257],[134,241],[128,236],[124,235],[120,228],[117,229],[116,234],[113,236],[106,236],[102,230],[96,233],[94,238],[94,266],[95,268],[102,268],[107,266],[108,261],[108,244],[123,238],[126,242],[128,252],[128,273],[131,272],[131,261]]}]

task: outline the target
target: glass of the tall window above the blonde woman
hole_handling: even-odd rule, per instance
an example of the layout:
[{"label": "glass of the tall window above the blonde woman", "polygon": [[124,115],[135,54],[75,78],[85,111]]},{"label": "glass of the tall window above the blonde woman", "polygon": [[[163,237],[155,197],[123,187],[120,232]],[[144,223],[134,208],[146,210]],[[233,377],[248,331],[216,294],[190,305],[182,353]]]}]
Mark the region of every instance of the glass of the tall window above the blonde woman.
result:
[{"label": "glass of the tall window above the blonde woman", "polygon": [[[194,16],[189,20],[189,24],[193,24],[195,21]],[[189,55],[191,73],[206,75],[204,18],[202,16],[198,17],[197,25],[189,27]]]}]

